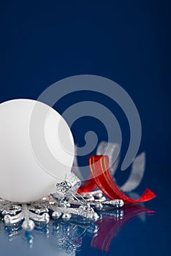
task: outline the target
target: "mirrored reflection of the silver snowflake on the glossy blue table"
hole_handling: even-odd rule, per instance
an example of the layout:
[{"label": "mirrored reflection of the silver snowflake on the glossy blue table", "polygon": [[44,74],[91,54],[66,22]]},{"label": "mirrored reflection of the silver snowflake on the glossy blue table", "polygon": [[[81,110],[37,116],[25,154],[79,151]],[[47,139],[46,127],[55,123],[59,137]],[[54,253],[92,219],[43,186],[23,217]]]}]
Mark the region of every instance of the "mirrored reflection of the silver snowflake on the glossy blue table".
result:
[{"label": "mirrored reflection of the silver snowflake on the glossy blue table", "polygon": [[8,236],[9,241],[22,238],[30,248],[34,246],[37,235],[50,237],[50,242],[56,247],[57,255],[59,252],[64,255],[75,255],[80,251],[83,237],[86,234],[94,235],[99,230],[94,222],[83,222],[81,219],[79,221],[79,218],[69,222],[62,218],[57,221],[51,218],[46,226],[39,228],[36,225],[34,230],[23,230],[20,225],[5,226],[3,222],[0,222],[0,229],[1,233]]}]

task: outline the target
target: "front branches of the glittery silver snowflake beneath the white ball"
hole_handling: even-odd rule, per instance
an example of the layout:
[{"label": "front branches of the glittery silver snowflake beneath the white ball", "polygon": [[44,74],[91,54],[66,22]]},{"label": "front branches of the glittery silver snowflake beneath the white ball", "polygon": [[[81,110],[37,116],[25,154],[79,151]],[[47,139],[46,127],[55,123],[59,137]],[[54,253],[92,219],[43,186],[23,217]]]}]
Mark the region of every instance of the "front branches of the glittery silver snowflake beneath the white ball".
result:
[{"label": "front branches of the glittery silver snowflake beneath the white ball", "polygon": [[[70,206],[70,205],[69,205]],[[72,216],[82,217],[87,221],[96,221],[98,214],[90,206],[78,206],[77,208],[61,206],[61,202],[49,196],[33,203],[15,203],[0,200],[1,220],[7,227],[21,226],[23,230],[31,231],[35,225],[45,226],[53,219],[60,217],[69,221]]]}]

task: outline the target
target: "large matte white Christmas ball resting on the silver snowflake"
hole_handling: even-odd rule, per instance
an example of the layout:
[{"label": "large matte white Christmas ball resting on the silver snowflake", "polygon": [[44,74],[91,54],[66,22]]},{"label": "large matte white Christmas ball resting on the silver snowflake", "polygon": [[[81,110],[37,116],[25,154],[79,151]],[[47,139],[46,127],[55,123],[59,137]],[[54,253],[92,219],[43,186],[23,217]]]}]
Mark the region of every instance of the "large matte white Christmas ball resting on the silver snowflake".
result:
[{"label": "large matte white Christmas ball resting on the silver snowflake", "polygon": [[53,108],[32,99],[0,104],[1,198],[29,202],[55,192],[71,171],[74,151],[72,133]]}]

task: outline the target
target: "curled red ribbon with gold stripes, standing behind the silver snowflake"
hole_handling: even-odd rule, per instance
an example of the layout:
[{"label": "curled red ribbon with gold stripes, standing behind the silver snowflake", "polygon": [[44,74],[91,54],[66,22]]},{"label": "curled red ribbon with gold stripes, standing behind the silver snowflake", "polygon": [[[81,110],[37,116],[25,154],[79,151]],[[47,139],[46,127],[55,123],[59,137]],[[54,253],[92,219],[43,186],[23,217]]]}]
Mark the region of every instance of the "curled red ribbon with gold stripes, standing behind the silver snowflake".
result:
[{"label": "curled red ribbon with gold stripes, standing behind the silver snowflake", "polygon": [[110,176],[110,172],[107,170],[108,163],[109,159],[107,156],[89,157],[91,175],[80,187],[80,189],[78,189],[78,192],[90,192],[96,189],[96,187],[99,187],[104,195],[106,195],[110,200],[115,198],[122,199],[125,204],[145,202],[156,197],[156,195],[150,189],[145,189],[145,192],[143,192],[142,196],[137,200],[125,195],[120,189],[118,189],[113,181],[113,178]]}]

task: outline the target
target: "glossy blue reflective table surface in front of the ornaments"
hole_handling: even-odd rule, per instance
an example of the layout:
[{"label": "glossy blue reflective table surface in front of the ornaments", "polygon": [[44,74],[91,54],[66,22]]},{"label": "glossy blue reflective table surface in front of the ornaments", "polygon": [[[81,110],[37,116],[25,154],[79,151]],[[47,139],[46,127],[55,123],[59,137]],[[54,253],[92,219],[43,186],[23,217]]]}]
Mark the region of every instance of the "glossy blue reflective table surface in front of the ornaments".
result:
[{"label": "glossy blue reflective table surface in front of the ornaments", "polygon": [[164,182],[164,191],[156,187],[151,202],[100,211],[95,223],[50,220],[25,233],[0,222],[1,255],[170,255],[169,182]]}]

